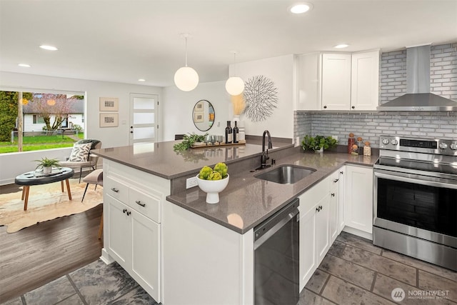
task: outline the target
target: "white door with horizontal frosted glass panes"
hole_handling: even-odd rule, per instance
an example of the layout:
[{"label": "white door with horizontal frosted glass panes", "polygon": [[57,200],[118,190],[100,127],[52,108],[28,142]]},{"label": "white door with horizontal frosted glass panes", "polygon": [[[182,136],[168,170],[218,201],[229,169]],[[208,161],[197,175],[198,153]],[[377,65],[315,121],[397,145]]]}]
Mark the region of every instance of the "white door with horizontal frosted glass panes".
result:
[{"label": "white door with horizontal frosted glass panes", "polygon": [[157,141],[159,96],[130,94],[130,145]]}]

